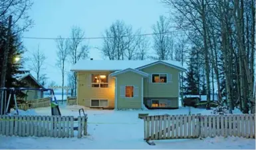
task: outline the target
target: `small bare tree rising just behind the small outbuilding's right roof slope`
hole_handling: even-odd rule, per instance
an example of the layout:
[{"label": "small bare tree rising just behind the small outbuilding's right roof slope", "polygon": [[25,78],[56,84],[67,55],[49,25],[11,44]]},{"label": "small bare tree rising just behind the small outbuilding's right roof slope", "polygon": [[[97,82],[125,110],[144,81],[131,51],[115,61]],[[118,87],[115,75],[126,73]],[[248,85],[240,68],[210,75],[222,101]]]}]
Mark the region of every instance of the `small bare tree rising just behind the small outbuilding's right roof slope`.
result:
[{"label": "small bare tree rising just behind the small outbuilding's right roof slope", "polygon": [[43,52],[40,51],[39,46],[37,50],[32,53],[32,56],[29,57],[29,59],[31,61],[31,65],[29,67],[31,71],[35,72],[37,81],[42,85],[45,85],[47,78],[46,75],[42,73],[42,71],[45,69],[44,65],[47,57]]}]

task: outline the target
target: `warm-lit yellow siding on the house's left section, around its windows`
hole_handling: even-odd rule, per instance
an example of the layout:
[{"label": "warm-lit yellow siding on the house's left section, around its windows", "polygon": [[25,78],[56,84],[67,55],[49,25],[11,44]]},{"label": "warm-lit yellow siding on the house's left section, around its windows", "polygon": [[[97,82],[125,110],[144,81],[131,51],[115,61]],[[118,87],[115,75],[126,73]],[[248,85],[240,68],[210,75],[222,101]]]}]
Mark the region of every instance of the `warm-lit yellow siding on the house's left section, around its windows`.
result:
[{"label": "warm-lit yellow siding on the house's left section, around its windows", "polygon": [[92,87],[91,74],[105,73],[110,74],[110,71],[80,71],[77,73],[77,98],[78,105],[90,107],[91,99],[108,100],[107,108],[114,108],[114,79],[108,76],[108,87],[98,88]]}]

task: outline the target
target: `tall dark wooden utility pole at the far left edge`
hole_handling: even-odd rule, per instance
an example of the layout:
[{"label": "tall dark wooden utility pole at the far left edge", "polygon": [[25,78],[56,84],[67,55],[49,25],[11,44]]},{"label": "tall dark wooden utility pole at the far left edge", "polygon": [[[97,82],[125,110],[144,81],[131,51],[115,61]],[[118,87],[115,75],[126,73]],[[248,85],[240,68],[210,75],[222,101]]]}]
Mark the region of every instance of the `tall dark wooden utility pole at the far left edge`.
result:
[{"label": "tall dark wooden utility pole at the far left edge", "polygon": [[[0,87],[3,88],[5,87],[5,76],[6,76],[6,71],[7,71],[7,62],[8,62],[8,54],[9,54],[9,45],[10,45],[10,40],[11,40],[11,22],[12,22],[13,17],[10,15],[9,16],[9,22],[8,22],[8,30],[7,30],[7,42],[5,45],[5,52],[3,54],[3,67],[1,70],[1,83]],[[0,94],[0,100],[3,100],[3,95]],[[3,114],[3,102],[0,103],[0,114]]]}]

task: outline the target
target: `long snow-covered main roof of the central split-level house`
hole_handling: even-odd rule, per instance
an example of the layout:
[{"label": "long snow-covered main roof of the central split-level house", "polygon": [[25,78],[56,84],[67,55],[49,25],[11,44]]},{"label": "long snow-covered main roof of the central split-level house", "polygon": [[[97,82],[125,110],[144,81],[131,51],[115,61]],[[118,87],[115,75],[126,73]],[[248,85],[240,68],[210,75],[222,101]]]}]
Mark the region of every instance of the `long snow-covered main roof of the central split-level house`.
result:
[{"label": "long snow-covered main roof of the central split-level house", "polygon": [[71,67],[71,71],[118,71],[127,68],[137,69],[152,63],[165,63],[181,71],[186,69],[180,61],[148,61],[148,60],[80,60]]}]

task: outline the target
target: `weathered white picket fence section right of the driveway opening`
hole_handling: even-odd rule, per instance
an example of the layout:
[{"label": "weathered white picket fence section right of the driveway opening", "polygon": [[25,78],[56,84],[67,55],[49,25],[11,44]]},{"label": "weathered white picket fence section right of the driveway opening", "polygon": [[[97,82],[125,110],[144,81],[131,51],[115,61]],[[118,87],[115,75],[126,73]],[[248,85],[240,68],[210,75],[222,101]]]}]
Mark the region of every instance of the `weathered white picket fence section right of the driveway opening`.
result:
[{"label": "weathered white picket fence section right of the driveway opening", "polygon": [[255,114],[145,116],[144,140],[237,136],[255,138]]}]

